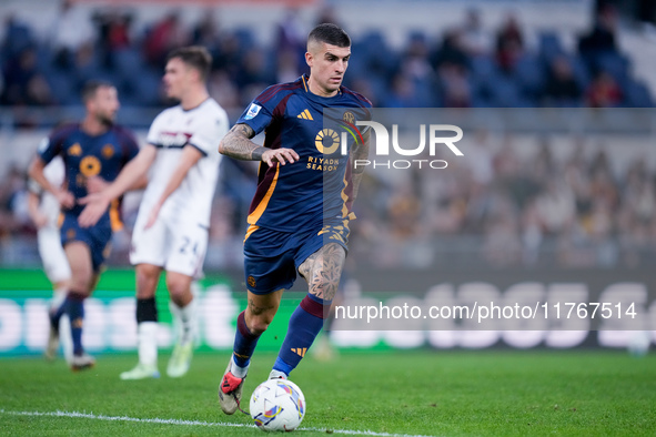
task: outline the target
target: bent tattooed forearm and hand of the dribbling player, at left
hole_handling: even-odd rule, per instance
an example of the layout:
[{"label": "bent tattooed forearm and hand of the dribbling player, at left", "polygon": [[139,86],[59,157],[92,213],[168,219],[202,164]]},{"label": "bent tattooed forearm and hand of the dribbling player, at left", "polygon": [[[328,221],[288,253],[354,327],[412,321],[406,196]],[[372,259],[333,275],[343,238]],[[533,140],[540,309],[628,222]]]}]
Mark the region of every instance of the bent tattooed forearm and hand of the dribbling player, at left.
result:
[{"label": "bent tattooed forearm and hand of the dribbling player, at left", "polygon": [[255,144],[251,139],[255,136],[255,131],[248,124],[235,124],[230,132],[221,140],[219,153],[235,160],[242,161],[264,161],[269,166],[279,162],[294,163],[299,161],[299,154],[293,149],[280,148],[269,149]]}]

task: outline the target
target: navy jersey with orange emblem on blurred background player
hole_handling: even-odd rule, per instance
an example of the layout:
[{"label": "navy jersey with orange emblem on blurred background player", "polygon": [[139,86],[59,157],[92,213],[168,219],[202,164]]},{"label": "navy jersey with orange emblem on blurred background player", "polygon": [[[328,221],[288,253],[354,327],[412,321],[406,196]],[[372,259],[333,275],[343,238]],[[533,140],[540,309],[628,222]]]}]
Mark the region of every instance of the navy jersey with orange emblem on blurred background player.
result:
[{"label": "navy jersey with orange emblem on blurred background player", "polygon": [[[55,129],[39,145],[39,156],[49,163],[61,155],[65,164],[67,190],[75,199],[84,197],[87,177],[99,176],[111,182],[128,161],[137,156],[139,145],[132,134],[120,126],[112,126],[100,135],[89,135],[80,124],[67,124]],[[115,204],[108,214],[115,214]],[[79,215],[83,205],[75,205],[67,213]],[[112,217],[118,220],[117,217]]]}]

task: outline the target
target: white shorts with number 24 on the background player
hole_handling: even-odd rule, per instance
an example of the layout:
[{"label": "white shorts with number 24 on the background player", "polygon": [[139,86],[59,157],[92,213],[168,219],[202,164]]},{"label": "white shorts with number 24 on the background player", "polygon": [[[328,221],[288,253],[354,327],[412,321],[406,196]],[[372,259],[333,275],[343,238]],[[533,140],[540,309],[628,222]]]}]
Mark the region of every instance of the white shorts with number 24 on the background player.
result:
[{"label": "white shorts with number 24 on the background player", "polygon": [[195,221],[185,223],[180,218],[166,220],[160,216],[155,224],[144,230],[148,210],[142,207],[137,216],[130,263],[158,265],[166,272],[202,277],[208,250],[208,228]]}]

